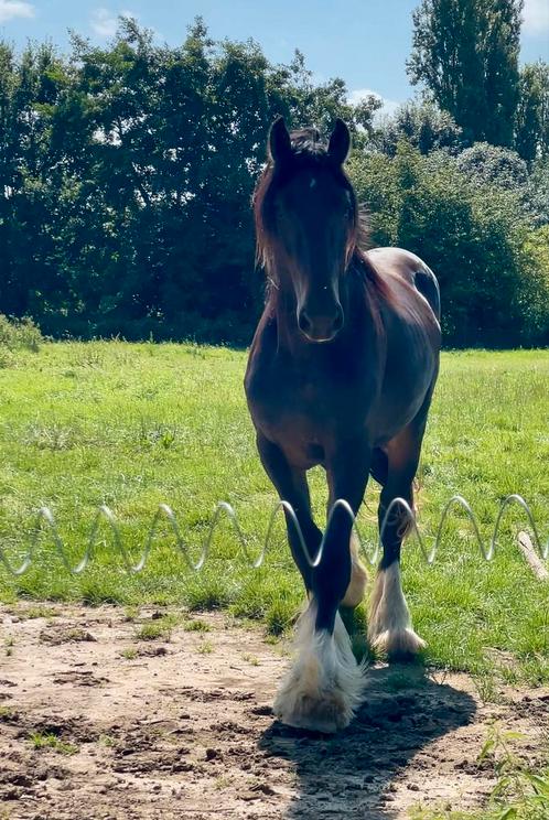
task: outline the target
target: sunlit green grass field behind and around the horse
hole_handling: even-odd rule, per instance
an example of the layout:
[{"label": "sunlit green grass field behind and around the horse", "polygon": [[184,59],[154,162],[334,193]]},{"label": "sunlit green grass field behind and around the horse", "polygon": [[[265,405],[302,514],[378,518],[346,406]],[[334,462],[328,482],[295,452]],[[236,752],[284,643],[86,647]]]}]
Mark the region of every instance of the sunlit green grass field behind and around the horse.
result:
[{"label": "sunlit green grass field behind and around the horse", "polygon": [[[137,558],[157,506],[174,509],[193,555],[217,500],[237,511],[247,544],[260,549],[276,500],[254,443],[241,388],[246,355],[191,345],[45,344],[19,353],[0,370],[0,539],[15,560],[29,543],[33,510],[49,505],[76,563],[96,505],[116,512]],[[442,505],[464,495],[487,540],[498,504],[528,500],[549,537],[549,353],[446,353],[419,472],[422,530],[434,535]],[[326,490],[313,471],[320,518]],[[368,488],[359,522],[376,538],[377,487]],[[432,568],[413,539],[403,553],[403,583],[428,661],[463,669],[489,688],[549,682],[549,586],[526,567],[515,533],[526,524],[509,511],[497,557],[487,564],[463,512],[449,520]],[[166,526],[146,570],[128,576],[101,526],[93,565],[71,576],[41,540],[33,567],[18,580],[0,569],[0,598],[79,598],[90,604],[176,602],[230,607],[280,633],[302,600],[283,521],[263,569],[244,568],[228,522],[206,568],[185,569]]]}]

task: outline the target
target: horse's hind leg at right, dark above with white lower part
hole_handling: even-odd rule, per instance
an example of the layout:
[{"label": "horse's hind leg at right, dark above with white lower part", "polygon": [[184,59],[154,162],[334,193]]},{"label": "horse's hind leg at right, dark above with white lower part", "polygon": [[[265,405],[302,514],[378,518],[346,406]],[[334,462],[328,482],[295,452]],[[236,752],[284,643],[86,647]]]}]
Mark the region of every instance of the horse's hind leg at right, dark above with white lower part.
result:
[{"label": "horse's hind leg at right, dark above with white lower part", "polygon": [[[427,410],[387,445],[388,475],[378,510],[380,532],[389,505],[395,498],[403,498],[413,509],[412,483],[418,468],[426,420]],[[407,511],[396,505],[383,529],[384,553],[368,619],[370,645],[394,658],[417,655],[426,646],[412,628],[400,581],[400,547],[408,524]]]}]

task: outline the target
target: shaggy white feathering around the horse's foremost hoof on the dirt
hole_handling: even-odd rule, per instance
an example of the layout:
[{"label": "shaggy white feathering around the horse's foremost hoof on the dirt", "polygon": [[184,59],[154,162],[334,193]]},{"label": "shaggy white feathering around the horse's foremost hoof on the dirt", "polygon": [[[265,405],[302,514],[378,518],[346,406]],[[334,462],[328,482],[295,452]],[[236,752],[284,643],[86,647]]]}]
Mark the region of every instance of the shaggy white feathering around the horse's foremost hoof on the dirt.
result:
[{"label": "shaggy white feathering around the horse's foremost hoof on the dirt", "polygon": [[334,634],[315,632],[316,604],[301,615],[295,636],[297,658],[277,693],[273,711],[282,723],[316,732],[348,726],[364,690],[362,667],[340,614]]}]

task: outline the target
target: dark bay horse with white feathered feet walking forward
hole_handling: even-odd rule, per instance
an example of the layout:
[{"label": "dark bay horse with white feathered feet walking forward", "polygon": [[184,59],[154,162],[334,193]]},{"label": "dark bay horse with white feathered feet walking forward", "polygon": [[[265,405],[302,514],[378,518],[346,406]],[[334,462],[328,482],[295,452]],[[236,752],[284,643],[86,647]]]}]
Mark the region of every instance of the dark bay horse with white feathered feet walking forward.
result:
[{"label": "dark bay horse with white feathered feet walking forward", "polygon": [[[270,284],[246,396],[263,467],[292,505],[311,555],[322,540],[306,483],[314,465],[326,471],[330,508],[343,498],[356,515],[369,475],[383,485],[380,524],[394,498],[412,504],[439,369],[437,280],[413,253],[365,249],[343,170],[349,144],[342,120],[326,145],[315,129],[290,134],[278,119],[254,202],[258,258]],[[405,522],[396,508],[383,532],[368,622],[370,643],[389,656],[423,647],[400,583]],[[342,506],[314,569],[288,515],[287,526],[309,605],[274,712],[293,726],[335,732],[349,723],[364,689],[338,607],[360,602],[366,572]]]}]

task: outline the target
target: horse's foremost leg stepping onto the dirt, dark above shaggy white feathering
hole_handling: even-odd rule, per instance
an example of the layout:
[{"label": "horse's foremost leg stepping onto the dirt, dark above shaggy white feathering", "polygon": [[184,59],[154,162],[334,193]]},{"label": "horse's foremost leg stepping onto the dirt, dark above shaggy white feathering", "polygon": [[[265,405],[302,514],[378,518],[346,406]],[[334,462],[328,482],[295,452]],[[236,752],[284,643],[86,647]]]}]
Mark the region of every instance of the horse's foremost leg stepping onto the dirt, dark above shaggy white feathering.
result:
[{"label": "horse's foremost leg stepping onto the dirt, dark above shaggy white feathering", "polygon": [[[345,498],[356,514],[368,477],[367,454],[329,465],[332,499]],[[321,562],[312,573],[312,595],[301,615],[297,659],[282,683],[274,711],[293,726],[336,732],[347,726],[362,701],[364,678],[353,655],[351,638],[337,612],[352,578],[349,538],[352,520],[338,508],[330,522]]]}]

